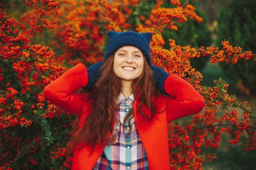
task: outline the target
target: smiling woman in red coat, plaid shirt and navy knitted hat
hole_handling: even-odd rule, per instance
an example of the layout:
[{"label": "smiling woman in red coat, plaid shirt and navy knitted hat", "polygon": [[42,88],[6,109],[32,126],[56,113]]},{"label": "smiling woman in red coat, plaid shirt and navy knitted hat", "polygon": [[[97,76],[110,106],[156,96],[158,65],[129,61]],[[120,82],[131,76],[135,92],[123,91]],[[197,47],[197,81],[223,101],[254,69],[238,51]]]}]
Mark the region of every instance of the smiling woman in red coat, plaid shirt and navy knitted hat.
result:
[{"label": "smiling woman in red coat, plaid shirt and navy knitted hat", "polygon": [[204,98],[151,65],[151,33],[108,35],[103,62],[88,69],[77,64],[44,90],[49,102],[77,115],[72,169],[167,170],[168,122],[199,113]]}]

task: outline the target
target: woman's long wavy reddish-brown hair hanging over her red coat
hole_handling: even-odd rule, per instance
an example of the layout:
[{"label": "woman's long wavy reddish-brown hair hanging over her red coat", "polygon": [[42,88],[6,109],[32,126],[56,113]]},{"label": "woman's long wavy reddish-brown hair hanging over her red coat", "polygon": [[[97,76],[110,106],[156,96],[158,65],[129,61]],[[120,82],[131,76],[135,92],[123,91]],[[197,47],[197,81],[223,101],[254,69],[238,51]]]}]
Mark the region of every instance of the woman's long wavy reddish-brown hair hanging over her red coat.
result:
[{"label": "woman's long wavy reddish-brown hair hanging over her red coat", "polygon": [[[88,100],[92,101],[91,113],[85,118],[81,128],[78,128],[79,115],[76,117],[70,132],[72,135],[70,148],[72,149],[81,143],[83,146],[88,144],[94,148],[97,143],[103,147],[106,142],[112,144],[115,141],[115,139],[110,139],[110,135],[116,121],[116,101],[122,92],[122,84],[121,79],[113,71],[113,63],[114,55],[111,55],[101,66],[100,76],[94,87],[90,91],[84,92],[88,96]],[[148,66],[145,57],[142,74],[132,82],[132,93],[135,97],[139,95],[138,113],[148,120],[152,119],[155,113],[153,97],[159,95],[159,91],[155,88],[153,71]],[[151,112],[150,118],[141,110],[144,104]],[[124,119],[124,124],[128,121],[128,125],[131,126],[130,119],[133,116],[133,109],[131,109]],[[109,139],[112,141],[108,141]]]}]

